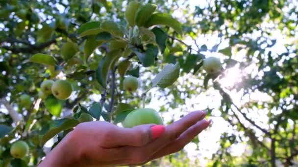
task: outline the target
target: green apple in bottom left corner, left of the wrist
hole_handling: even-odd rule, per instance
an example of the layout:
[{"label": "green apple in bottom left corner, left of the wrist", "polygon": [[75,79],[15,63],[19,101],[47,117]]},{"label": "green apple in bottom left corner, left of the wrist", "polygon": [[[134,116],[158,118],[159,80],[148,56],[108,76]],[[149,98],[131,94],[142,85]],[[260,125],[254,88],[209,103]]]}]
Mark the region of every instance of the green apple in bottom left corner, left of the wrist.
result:
[{"label": "green apple in bottom left corner, left of the wrist", "polygon": [[23,158],[28,152],[29,146],[22,140],[13,143],[10,147],[10,154],[15,158]]}]

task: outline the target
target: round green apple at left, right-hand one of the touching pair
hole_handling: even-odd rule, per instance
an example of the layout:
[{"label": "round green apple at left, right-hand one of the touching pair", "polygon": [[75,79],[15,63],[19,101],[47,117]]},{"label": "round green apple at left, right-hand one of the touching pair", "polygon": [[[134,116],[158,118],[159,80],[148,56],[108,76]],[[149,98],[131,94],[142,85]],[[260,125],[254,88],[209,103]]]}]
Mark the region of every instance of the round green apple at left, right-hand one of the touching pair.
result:
[{"label": "round green apple at left, right-hand one of the touching pair", "polygon": [[52,94],[57,99],[65,100],[71,96],[73,87],[69,82],[65,80],[57,80],[53,83],[51,90]]}]

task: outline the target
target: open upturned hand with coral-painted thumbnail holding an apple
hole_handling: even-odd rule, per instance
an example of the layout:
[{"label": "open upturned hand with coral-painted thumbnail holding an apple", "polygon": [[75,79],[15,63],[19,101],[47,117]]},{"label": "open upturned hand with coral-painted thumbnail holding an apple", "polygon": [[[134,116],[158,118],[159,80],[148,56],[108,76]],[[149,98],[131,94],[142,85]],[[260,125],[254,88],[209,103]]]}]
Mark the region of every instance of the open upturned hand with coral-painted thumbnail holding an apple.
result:
[{"label": "open upturned hand with coral-painted thumbnail holding an apple", "polygon": [[40,167],[123,166],[145,164],[181,150],[211,121],[206,113],[189,113],[171,125],[122,128],[108,122],[76,126],[46,157]]}]

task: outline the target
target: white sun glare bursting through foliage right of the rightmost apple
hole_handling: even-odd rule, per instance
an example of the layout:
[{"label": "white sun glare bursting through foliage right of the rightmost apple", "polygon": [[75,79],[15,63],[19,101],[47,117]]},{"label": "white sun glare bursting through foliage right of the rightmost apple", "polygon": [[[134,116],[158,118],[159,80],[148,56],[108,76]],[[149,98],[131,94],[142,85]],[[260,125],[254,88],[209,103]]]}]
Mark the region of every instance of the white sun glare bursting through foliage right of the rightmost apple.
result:
[{"label": "white sun glare bursting through foliage right of the rightmost apple", "polygon": [[239,66],[235,66],[224,71],[224,78],[220,79],[219,83],[225,88],[232,88],[242,82],[242,76]]}]

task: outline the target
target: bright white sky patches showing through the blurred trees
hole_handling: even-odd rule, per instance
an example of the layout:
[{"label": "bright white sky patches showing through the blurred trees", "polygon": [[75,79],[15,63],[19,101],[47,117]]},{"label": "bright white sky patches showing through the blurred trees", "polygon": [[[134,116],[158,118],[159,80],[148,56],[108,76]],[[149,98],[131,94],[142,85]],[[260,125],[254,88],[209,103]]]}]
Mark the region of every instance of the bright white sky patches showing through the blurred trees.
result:
[{"label": "bright white sky patches showing through the blurred trees", "polygon": [[[208,4],[206,0],[189,0],[189,1],[191,3],[191,5],[189,6],[190,7],[189,14],[194,12],[195,6],[205,7]],[[179,6],[180,9],[184,8],[182,5],[182,2],[183,2],[182,0],[178,2],[180,5]],[[213,0],[211,0],[211,2],[213,3]],[[172,2],[169,1],[169,3],[172,3]],[[60,12],[64,11],[63,6],[58,5],[57,7],[59,8]],[[181,11],[182,10],[179,10],[179,9],[175,10],[174,17],[178,18],[181,22],[183,22],[184,21],[183,14]],[[266,22],[266,23],[263,23],[262,26],[273,27],[275,26],[275,24],[273,22],[269,22],[269,23]],[[282,33],[279,32],[279,30],[275,30],[275,31],[276,32],[273,33],[274,37],[270,37],[271,39],[276,39],[276,44],[271,50],[273,53],[278,54],[285,51],[284,45],[289,41],[291,41],[291,39],[285,38],[282,35]],[[256,31],[252,34],[252,38],[254,39],[257,38],[258,36],[260,36],[260,32]],[[208,49],[210,49],[214,44],[218,43],[219,41],[220,39],[218,38],[217,34],[201,35],[197,38],[197,43],[199,45],[206,44]],[[192,45],[193,48],[197,49],[195,42],[189,37],[186,37],[184,42],[186,42],[189,45]],[[222,49],[226,46],[228,46],[228,41],[224,40],[220,44],[219,49]],[[244,56],[246,56],[246,50],[241,50],[237,53],[235,53],[234,49],[232,51],[233,51],[232,58],[237,61],[241,62]],[[224,55],[220,53],[205,52],[204,54],[206,55],[206,57],[209,57],[209,56],[218,57],[222,61],[226,58]],[[232,87],[234,84],[241,83],[242,75],[254,75],[254,76],[260,75],[261,76],[262,72],[257,71],[257,67],[255,64],[252,63],[244,70],[240,70],[240,67],[236,65],[232,69],[226,70],[225,74],[226,74],[225,78],[220,80],[220,84],[230,94],[233,102],[236,105],[241,106],[242,104],[245,104],[252,100],[253,101],[271,100],[270,96],[263,94],[261,92],[252,92],[250,96],[243,96],[244,94],[243,90],[240,90],[238,92],[236,90],[229,90],[229,88]],[[182,84],[185,79],[189,79],[190,82],[192,83],[198,83],[200,85],[203,84],[198,77],[192,74],[188,74],[183,77],[180,77],[177,82]],[[158,97],[158,96],[161,96],[162,94],[159,92],[158,88],[153,88],[152,90],[150,90],[150,92],[153,94],[153,97],[151,99],[150,104],[147,104],[146,107],[159,110],[160,106],[164,105],[164,103],[161,99],[157,99],[157,98],[154,99],[154,95]],[[96,94],[91,95],[90,97],[94,101],[99,101],[100,99],[100,95],[96,95]],[[75,98],[74,95],[73,95],[73,98]],[[196,145],[194,143],[190,143],[184,148],[187,151],[191,160],[199,159],[201,166],[206,165],[206,163],[208,162],[208,159],[210,159],[212,157],[212,154],[215,153],[220,147],[218,141],[222,133],[224,132],[227,132],[230,134],[238,133],[235,131],[235,129],[233,129],[233,127],[229,126],[229,124],[226,121],[224,121],[223,118],[221,118],[221,112],[218,110],[221,104],[221,98],[222,97],[220,96],[219,92],[214,88],[210,87],[208,90],[206,90],[203,93],[193,95],[191,99],[187,98],[185,100],[186,103],[184,105],[178,106],[175,109],[170,109],[168,112],[162,113],[162,116],[164,117],[164,121],[168,122],[171,119],[178,120],[180,119],[181,114],[186,114],[193,110],[214,108],[211,114],[212,116],[208,118],[213,120],[212,126],[199,134],[199,141],[200,141],[199,144]],[[4,109],[3,105],[0,106],[0,111],[7,112]],[[266,116],[266,114],[268,113],[268,110],[266,109],[260,110],[257,108],[253,108],[249,110],[249,112],[247,112],[246,110],[244,110],[243,112],[246,112],[249,118],[251,118],[252,120],[255,120],[257,125],[260,125],[264,128],[269,128],[269,125],[267,125],[268,117]],[[275,112],[278,113],[280,111],[276,110]],[[243,121],[244,125],[246,126],[249,125],[248,122],[246,122],[242,116],[239,115],[239,117]],[[256,131],[256,136],[260,137],[262,133],[258,129],[255,129],[255,131]],[[240,135],[243,135],[243,134],[240,134]],[[244,140],[247,141],[248,139],[244,138]],[[262,140],[262,138],[260,137],[259,140]],[[47,143],[47,146],[50,146],[51,144],[52,144],[52,141],[50,143]],[[251,153],[251,150],[245,145],[245,143],[239,143],[239,144],[233,145],[230,151],[231,151],[231,154],[234,156],[240,156],[243,153],[245,153],[246,155],[249,155]]]}]

